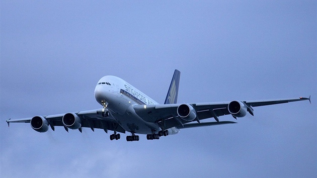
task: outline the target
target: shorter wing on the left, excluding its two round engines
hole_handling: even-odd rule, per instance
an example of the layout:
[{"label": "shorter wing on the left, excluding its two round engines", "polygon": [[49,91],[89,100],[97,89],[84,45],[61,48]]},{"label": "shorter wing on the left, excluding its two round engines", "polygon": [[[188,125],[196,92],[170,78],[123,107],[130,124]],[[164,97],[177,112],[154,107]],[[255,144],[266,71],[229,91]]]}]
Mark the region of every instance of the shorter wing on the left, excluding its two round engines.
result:
[{"label": "shorter wing on the left, excluding its two round engines", "polygon": [[[104,129],[105,132],[108,130],[116,130],[117,132],[125,133],[125,130],[117,123],[117,121],[113,118],[113,115],[116,113],[112,113],[111,111],[108,117],[102,117],[102,109],[98,110],[90,110],[90,111],[81,111],[75,112],[72,114],[77,115],[81,119],[82,127],[94,129]],[[57,115],[48,115],[42,116],[47,120],[52,130],[54,126],[64,126],[62,122],[62,118],[65,114],[57,114]],[[32,118],[24,118],[24,119],[9,119],[7,120],[8,126],[10,123],[30,123]],[[65,127],[65,130],[68,132],[68,128]],[[79,129],[81,131],[81,128]]]}]

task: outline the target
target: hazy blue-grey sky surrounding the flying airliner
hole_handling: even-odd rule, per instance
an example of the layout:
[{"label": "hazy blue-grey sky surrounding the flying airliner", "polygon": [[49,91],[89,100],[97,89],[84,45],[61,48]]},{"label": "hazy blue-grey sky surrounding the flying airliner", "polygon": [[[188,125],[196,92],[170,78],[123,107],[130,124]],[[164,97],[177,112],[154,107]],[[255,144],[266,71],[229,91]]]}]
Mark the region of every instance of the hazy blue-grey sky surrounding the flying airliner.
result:
[{"label": "hazy blue-grey sky surrounding the flying airliner", "polygon": [[[1,177],[317,176],[315,1],[1,1]],[[9,118],[99,109],[105,75],[164,103],[309,97],[160,140]],[[207,119],[206,121],[214,121]]]}]

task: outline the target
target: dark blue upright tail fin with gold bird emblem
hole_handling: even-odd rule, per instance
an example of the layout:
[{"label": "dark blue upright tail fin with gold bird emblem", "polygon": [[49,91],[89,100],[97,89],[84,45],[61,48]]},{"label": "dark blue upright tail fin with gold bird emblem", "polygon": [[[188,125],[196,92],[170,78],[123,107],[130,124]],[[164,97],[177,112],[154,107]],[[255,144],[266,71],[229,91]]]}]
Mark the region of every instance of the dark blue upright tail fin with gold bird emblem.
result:
[{"label": "dark blue upright tail fin with gold bird emblem", "polygon": [[180,83],[181,72],[175,70],[171,85],[169,88],[169,92],[166,96],[164,104],[176,104],[177,103],[177,96],[178,96],[178,86]]}]

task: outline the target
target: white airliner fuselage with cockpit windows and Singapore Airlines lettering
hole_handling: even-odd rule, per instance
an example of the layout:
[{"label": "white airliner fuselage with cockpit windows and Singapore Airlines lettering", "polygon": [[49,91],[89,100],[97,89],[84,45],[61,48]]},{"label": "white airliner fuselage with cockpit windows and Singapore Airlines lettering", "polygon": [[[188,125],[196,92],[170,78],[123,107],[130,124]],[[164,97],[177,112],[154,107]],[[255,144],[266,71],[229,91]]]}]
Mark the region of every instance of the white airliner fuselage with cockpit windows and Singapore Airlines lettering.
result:
[{"label": "white airliner fuselage with cockpit windows and Singapore Airlines lettering", "polygon": [[[111,111],[114,119],[126,131],[138,134],[151,134],[161,131],[157,123],[150,123],[140,118],[134,111],[135,105],[157,105],[147,95],[143,94],[128,82],[116,76],[102,77],[95,88],[97,102]],[[170,134],[179,132],[177,128],[168,129]]]}]

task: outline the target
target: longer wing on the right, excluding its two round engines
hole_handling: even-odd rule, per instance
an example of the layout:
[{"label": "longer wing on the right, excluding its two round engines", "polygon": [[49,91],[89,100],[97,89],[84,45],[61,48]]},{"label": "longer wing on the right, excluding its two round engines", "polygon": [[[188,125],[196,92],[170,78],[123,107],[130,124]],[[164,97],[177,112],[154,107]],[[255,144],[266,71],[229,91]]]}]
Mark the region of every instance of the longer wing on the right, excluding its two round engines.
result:
[{"label": "longer wing on the right, excluding its two round engines", "polygon": [[[289,103],[296,101],[309,100],[309,98],[289,98],[289,99],[275,99],[275,100],[253,100],[253,101],[240,101],[245,105],[247,111],[253,114],[252,107],[266,106],[266,105],[275,105],[281,103]],[[183,120],[178,116],[177,109],[180,105],[183,104],[165,104],[165,105],[136,105],[134,106],[135,112],[147,122],[156,122],[159,123],[160,127],[163,129],[168,129],[172,127],[178,128],[188,128],[188,127],[200,127],[200,126],[209,126],[209,125],[219,125],[219,124],[229,124],[234,122],[219,122],[218,117],[229,115],[228,105],[230,102],[217,102],[217,103],[193,103],[187,104],[190,105],[196,112],[196,118],[193,121],[198,123],[192,124]],[[233,116],[236,118],[235,116]],[[214,118],[218,124],[209,123],[204,124],[200,123],[200,120]]]}]

